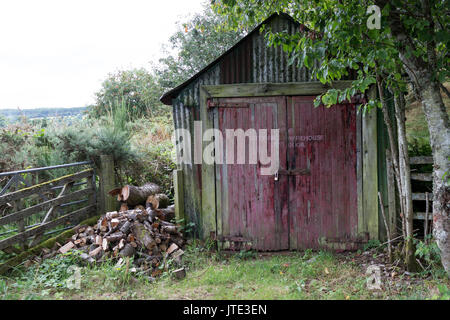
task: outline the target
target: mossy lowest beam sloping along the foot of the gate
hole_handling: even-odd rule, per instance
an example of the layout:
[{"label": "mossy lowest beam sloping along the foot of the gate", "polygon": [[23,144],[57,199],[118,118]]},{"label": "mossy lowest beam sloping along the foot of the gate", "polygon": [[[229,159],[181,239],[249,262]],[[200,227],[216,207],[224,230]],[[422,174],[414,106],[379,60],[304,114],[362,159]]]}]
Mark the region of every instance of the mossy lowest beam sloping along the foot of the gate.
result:
[{"label": "mossy lowest beam sloping along the foot of the gate", "polygon": [[79,228],[80,226],[84,226],[84,225],[92,226],[98,221],[99,218],[100,218],[100,215],[90,217],[90,218],[80,222],[78,224],[78,226],[76,226],[70,230],[66,230],[66,231],[60,233],[56,237],[45,240],[44,242],[37,245],[36,247],[33,247],[27,251],[24,251],[21,254],[7,260],[6,262],[4,262],[0,265],[0,274],[5,274],[5,272],[18,266],[19,264],[21,264],[23,261],[25,261],[25,259],[27,259],[30,256],[39,255],[43,248],[52,249],[53,246],[56,244],[56,242],[58,242],[58,243],[64,242],[66,239],[73,236],[75,234],[75,231],[77,230],[77,228]]}]

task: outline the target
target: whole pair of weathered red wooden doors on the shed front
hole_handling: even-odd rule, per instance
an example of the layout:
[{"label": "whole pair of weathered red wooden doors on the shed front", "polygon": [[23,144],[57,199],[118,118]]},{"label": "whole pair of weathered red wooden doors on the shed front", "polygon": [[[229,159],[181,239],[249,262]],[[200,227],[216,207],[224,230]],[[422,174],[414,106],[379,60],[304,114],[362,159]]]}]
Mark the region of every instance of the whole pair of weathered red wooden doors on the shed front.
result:
[{"label": "whole pair of weathered red wooden doors on the shed front", "polygon": [[[278,180],[262,175],[260,162],[249,164],[248,139],[245,164],[216,164],[219,239],[248,240],[254,249],[268,251],[335,243],[343,249],[356,237],[356,108],[314,108],[313,100],[296,96],[215,101],[224,159],[227,129],[279,129]],[[270,140],[270,131],[268,135]]]}]

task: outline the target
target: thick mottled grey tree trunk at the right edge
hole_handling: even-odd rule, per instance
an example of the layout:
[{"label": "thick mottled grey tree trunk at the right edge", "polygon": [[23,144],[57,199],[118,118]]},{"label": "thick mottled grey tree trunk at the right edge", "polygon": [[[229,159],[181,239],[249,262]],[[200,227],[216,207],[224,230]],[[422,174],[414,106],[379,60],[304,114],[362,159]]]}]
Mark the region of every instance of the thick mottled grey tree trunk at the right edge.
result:
[{"label": "thick mottled grey tree trunk at the right edge", "polygon": [[[388,0],[377,0],[377,5],[384,7]],[[428,16],[430,30],[434,30],[430,3],[421,2],[422,14]],[[399,58],[405,71],[415,84],[420,95],[422,107],[427,119],[430,133],[430,144],[433,151],[433,234],[441,251],[441,261],[450,275],[450,222],[449,186],[444,181],[445,172],[450,168],[450,132],[449,119],[439,90],[439,81],[435,71],[438,70],[436,59],[436,43],[427,43],[426,57],[412,54],[417,43],[405,30],[399,11],[390,10],[388,22],[392,36],[399,50]],[[447,178],[448,179],[448,178]]]}]

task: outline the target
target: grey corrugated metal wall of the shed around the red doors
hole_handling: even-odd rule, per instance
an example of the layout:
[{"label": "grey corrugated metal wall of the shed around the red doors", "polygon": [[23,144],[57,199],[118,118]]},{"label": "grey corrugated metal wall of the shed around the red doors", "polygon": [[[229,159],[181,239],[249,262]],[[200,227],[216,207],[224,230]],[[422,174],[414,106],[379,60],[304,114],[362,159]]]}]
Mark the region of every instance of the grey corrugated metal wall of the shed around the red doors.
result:
[{"label": "grey corrugated metal wall of the shed around the red doors", "polygon": [[[282,16],[271,19],[267,27],[275,32],[286,31],[290,34],[298,32],[298,26]],[[194,121],[200,120],[200,86],[202,85],[315,81],[311,79],[308,69],[297,67],[297,61],[289,65],[288,59],[288,54],[283,52],[281,47],[274,48],[266,45],[264,34],[253,33],[216,64],[200,74],[173,99],[175,128],[187,129],[194,133]],[[348,78],[351,78],[351,75]],[[382,128],[380,125],[378,127]],[[193,143],[194,139],[191,140],[191,159],[193,159]],[[382,139],[379,143],[386,142]],[[182,164],[179,169],[182,169],[184,183],[184,215],[188,221],[194,222],[198,227],[197,235],[203,235],[201,230],[202,167],[196,164]],[[381,171],[385,174],[385,171]],[[380,187],[385,185],[383,182]],[[208,192],[213,191],[208,190]]]}]

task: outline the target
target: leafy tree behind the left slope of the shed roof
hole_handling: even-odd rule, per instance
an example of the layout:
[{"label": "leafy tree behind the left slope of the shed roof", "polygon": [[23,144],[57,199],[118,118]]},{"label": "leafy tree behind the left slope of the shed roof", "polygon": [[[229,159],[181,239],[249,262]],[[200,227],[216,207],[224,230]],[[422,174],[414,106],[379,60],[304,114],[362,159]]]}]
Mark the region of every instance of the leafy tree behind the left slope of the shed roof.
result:
[{"label": "leafy tree behind the left slope of the shed roof", "polygon": [[164,48],[167,57],[155,66],[162,87],[172,89],[189,79],[244,35],[219,28],[224,20],[206,7],[188,21],[178,22],[178,31],[169,39],[170,47]]}]

